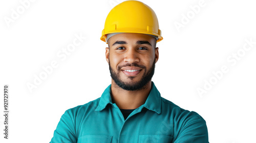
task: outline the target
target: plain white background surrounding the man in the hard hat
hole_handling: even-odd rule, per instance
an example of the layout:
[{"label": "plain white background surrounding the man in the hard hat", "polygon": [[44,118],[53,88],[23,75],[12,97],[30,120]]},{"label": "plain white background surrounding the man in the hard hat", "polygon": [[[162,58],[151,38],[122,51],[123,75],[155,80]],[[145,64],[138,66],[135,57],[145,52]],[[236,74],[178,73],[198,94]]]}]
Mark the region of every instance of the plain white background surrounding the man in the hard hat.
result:
[{"label": "plain white background surrounding the man in the hard hat", "polygon": [[[0,85],[3,91],[9,84],[10,102],[7,140],[0,98],[0,142],[50,142],[67,109],[99,98],[111,84],[107,44],[99,38],[107,14],[122,1],[38,0],[28,1],[22,11],[24,1],[0,2]],[[256,44],[243,53],[245,39],[256,41],[255,1],[205,0],[196,14],[191,7],[199,0],[141,2],[156,12],[164,38],[157,43],[160,57],[152,79],[161,96],[198,112],[206,121],[209,142],[256,142]],[[12,9],[19,15],[12,18]],[[177,29],[182,14],[190,18]],[[58,57],[76,34],[87,39],[65,60]],[[238,51],[240,60],[228,62]],[[52,61],[58,67],[30,92],[27,84],[34,84],[34,76]],[[197,88],[204,89],[212,71],[222,66],[228,72],[200,96]]]}]

